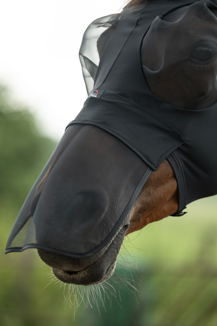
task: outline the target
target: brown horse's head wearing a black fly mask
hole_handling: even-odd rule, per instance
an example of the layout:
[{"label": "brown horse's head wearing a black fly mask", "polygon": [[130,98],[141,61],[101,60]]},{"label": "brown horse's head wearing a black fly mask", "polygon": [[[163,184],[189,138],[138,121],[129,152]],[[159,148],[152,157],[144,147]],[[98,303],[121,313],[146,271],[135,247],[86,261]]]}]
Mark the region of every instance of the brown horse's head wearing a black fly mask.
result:
[{"label": "brown horse's head wearing a black fly mask", "polygon": [[[99,284],[126,235],[217,193],[208,148],[216,131],[202,133],[216,114],[216,13],[209,1],[132,0],[90,25],[80,53],[89,96],[27,197],[6,253],[34,247],[62,282]],[[87,39],[98,62],[86,56]]]}]

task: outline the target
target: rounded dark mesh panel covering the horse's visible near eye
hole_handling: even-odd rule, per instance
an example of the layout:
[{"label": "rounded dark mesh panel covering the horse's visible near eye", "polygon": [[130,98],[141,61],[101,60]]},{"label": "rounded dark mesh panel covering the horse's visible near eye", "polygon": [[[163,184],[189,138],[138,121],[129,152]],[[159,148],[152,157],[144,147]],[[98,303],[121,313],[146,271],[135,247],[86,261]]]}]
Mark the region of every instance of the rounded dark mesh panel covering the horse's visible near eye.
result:
[{"label": "rounded dark mesh panel covering the horse's visible near eye", "polygon": [[154,95],[188,109],[209,107],[217,100],[216,7],[201,1],[156,17],[141,58]]}]

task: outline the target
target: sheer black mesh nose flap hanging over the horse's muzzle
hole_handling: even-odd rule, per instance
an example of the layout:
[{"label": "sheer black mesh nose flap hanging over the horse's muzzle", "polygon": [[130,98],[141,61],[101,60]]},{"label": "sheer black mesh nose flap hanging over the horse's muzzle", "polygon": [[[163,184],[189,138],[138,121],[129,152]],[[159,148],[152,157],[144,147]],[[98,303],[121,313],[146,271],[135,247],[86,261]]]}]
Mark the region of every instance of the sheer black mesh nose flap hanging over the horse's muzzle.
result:
[{"label": "sheer black mesh nose flap hanging over the horse's muzzle", "polygon": [[127,230],[146,171],[116,137],[95,126],[69,126],[29,193],[6,252],[34,247],[78,258],[98,252]]}]

